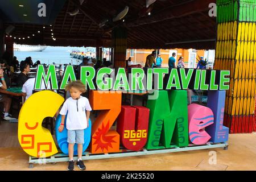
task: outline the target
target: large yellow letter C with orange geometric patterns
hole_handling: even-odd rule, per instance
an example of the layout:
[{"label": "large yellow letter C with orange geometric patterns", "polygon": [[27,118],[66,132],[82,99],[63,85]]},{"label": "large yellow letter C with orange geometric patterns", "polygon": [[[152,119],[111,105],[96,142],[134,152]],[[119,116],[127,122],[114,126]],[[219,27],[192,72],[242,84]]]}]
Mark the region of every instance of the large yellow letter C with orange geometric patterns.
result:
[{"label": "large yellow letter C with orange geometric patterns", "polygon": [[34,157],[48,157],[57,153],[57,147],[48,129],[42,127],[43,119],[53,117],[64,98],[43,90],[32,94],[20,109],[18,139],[23,150]]}]

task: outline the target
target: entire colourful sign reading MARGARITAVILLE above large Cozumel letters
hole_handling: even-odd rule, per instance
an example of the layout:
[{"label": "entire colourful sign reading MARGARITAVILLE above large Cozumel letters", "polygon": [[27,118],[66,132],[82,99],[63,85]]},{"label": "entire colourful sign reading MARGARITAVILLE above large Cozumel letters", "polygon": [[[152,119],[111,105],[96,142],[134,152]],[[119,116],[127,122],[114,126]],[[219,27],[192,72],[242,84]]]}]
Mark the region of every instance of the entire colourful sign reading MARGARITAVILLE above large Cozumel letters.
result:
[{"label": "entire colourful sign reading MARGARITAVILLE above large Cozumel letters", "polygon": [[[186,147],[189,143],[228,141],[229,129],[223,126],[223,118],[229,71],[134,68],[128,73],[123,68],[101,68],[96,73],[92,67],[81,67],[81,80],[92,89],[89,91],[90,105],[93,110],[101,110],[93,125],[89,121],[85,130],[84,151],[103,154],[139,151],[143,147],[156,150]],[[64,89],[69,80],[76,80],[72,66],[65,69],[59,88],[55,66],[50,65],[45,73],[39,65],[35,89],[40,89],[44,82],[51,84],[51,89]],[[152,90],[152,82],[157,97],[148,97],[146,107],[121,105],[121,90]],[[188,106],[185,89],[209,90],[207,106]],[[19,114],[18,138],[27,154],[47,157],[58,152],[51,133],[42,127],[42,121],[53,117],[63,102],[59,94],[43,90],[32,94],[24,103]],[[117,129],[110,130],[116,119]],[[64,154],[68,154],[67,130],[61,134],[57,131],[60,120],[59,116],[57,144]],[[120,146],[126,149],[121,150]]]}]

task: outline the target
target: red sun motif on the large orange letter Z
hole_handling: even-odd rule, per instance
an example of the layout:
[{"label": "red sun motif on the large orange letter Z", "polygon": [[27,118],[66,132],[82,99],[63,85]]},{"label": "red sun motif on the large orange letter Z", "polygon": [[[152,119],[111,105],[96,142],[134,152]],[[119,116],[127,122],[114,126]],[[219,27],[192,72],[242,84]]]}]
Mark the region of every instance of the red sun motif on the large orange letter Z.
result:
[{"label": "red sun motif on the large orange letter Z", "polygon": [[104,126],[104,123],[102,123],[102,127],[99,127],[95,133],[95,136],[92,137],[93,139],[95,139],[93,145],[94,144],[97,145],[95,151],[97,151],[99,148],[101,148],[102,152],[104,151],[104,149],[108,150],[108,147],[113,148],[112,143],[116,143],[113,140],[113,138],[116,136],[106,136],[108,131],[109,131],[109,121],[106,124],[106,126]]}]

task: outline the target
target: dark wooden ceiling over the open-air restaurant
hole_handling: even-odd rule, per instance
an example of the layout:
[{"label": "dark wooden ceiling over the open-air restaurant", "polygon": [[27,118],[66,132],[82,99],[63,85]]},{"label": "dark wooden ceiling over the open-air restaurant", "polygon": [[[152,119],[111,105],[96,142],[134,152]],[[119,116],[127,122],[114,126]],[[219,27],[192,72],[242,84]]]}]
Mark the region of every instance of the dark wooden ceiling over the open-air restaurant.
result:
[{"label": "dark wooden ceiling over the open-air restaurant", "polygon": [[[79,0],[67,0],[51,26],[29,23],[5,23],[5,26],[15,26],[11,35],[16,43],[23,44],[111,47],[113,28],[124,26],[128,30],[128,48],[214,49],[216,18],[208,15],[212,2],[157,0],[146,9],[145,0],[85,0],[82,5]],[[125,22],[112,22],[125,6],[129,6]],[[69,14],[76,9],[79,14]]]}]

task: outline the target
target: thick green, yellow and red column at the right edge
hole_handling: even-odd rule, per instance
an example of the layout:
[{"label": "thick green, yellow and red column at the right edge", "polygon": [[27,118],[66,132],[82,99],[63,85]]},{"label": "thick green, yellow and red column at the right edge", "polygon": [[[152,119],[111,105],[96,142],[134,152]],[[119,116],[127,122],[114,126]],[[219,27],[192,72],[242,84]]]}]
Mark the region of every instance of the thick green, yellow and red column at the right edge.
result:
[{"label": "thick green, yellow and red column at the right edge", "polygon": [[217,0],[214,69],[230,70],[224,125],[230,133],[254,130],[256,1]]}]

